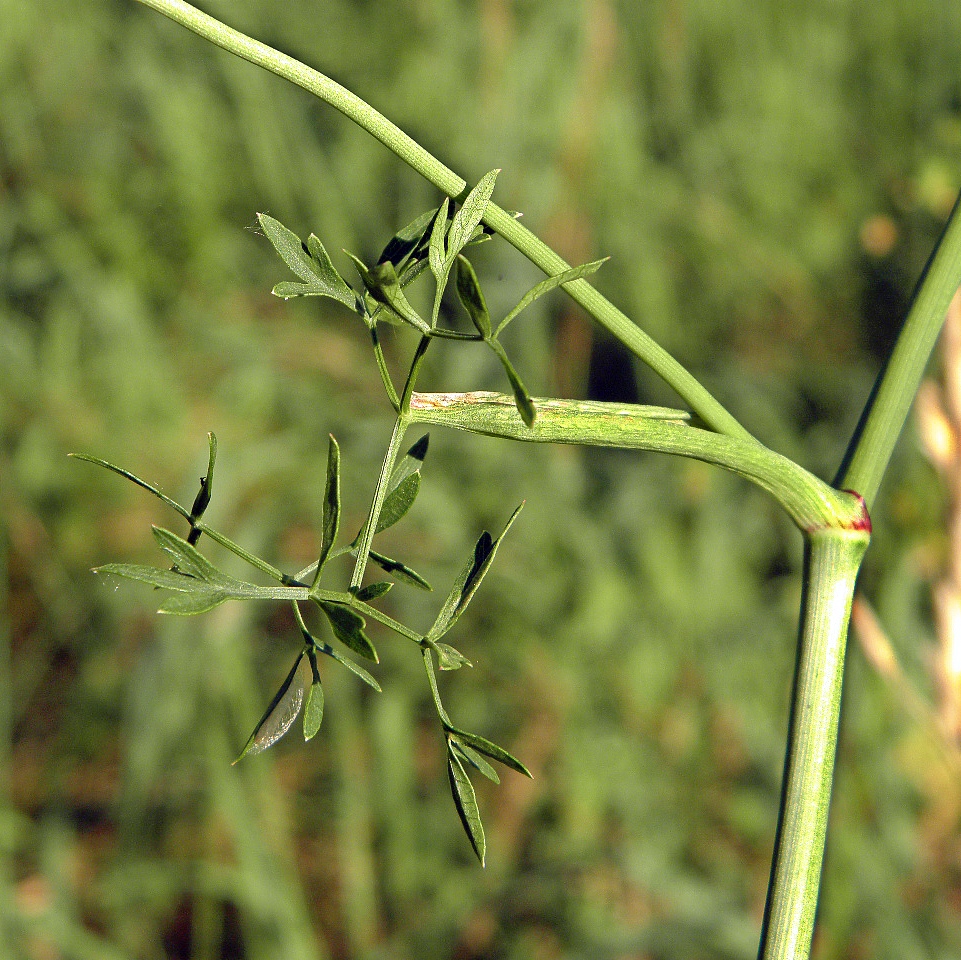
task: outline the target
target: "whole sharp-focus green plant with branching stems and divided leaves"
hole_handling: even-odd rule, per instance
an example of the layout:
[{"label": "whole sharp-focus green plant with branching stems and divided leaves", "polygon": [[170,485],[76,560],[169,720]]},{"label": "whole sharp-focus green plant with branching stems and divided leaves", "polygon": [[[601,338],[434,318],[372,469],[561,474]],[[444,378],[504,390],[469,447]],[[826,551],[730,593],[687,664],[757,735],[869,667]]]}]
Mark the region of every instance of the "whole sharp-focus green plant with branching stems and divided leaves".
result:
[{"label": "whole sharp-focus green plant with branching stems and divided leaves", "polygon": [[[354,257],[357,279],[348,283],[335,269],[321,241],[311,234],[304,242],[278,221],[259,217],[260,227],[281,259],[298,277],[274,287],[280,297],[321,296],[356,313],[370,335],[373,354],[387,399],[395,414],[394,429],[366,522],[353,539],[339,542],[340,454],[330,438],[324,486],[322,547],[316,563],[288,575],[250,554],[203,520],[210,500],[216,440],[210,437],[210,459],[200,491],[188,509],[126,470],[95,457],[98,463],[145,487],[187,521],[186,538],[155,528],[161,550],[172,561],[165,569],[108,564],[100,571],[170,591],[161,610],[198,614],[231,599],[268,599],[290,603],[303,636],[280,689],[240,757],[276,742],[303,714],[310,739],[323,716],[323,691],[317,663],[323,654],[344,664],[379,689],[377,681],[338,647],[308,626],[304,609],[318,608],[333,637],[354,654],[376,661],[365,633],[368,619],[384,624],[415,643],[446,739],[451,792],[468,839],[479,860],[485,857],[484,829],[468,771],[493,781],[491,760],[522,773],[527,769],[503,748],[458,727],[444,709],[436,670],[456,670],[467,659],[445,638],[473,598],[494,559],[498,544],[518,510],[497,538],[483,533],[451,588],[429,630],[408,627],[376,606],[394,581],[425,587],[406,564],[378,553],[375,536],[397,523],[410,509],[421,482],[427,453],[422,436],[401,456],[405,436],[420,424],[447,426],[474,433],[541,443],[574,443],[632,448],[713,463],[756,483],[787,511],[805,542],[800,638],[791,703],[781,808],[759,956],[767,960],[799,960],[810,954],[824,854],[831,782],[837,744],[845,645],[858,570],[871,535],[869,509],[900,434],[945,313],[961,284],[961,215],[956,205],[918,284],[903,329],[861,416],[844,461],[828,484],[803,467],[766,448],[673,357],[662,350],[584,278],[601,261],[571,267],[527,230],[515,215],[492,202],[497,171],[473,188],[411,140],[367,103],[328,77],[253,40],[200,12],[183,0],[140,0],[200,36],[250,62],[285,77],[340,110],[394,151],[432,183],[444,199],[399,231],[376,264]],[[506,316],[494,322],[480,281],[471,265],[472,248],[498,236],[512,244],[547,275]],[[405,289],[421,275],[434,284],[433,306],[422,316]],[[451,330],[439,322],[441,301],[449,284],[456,288],[474,331]],[[648,364],[684,401],[687,410],[640,405],[580,402],[532,397],[500,341],[507,324],[535,299],[557,287],[579,303],[638,358]],[[407,324],[419,334],[403,383],[398,389],[381,349],[383,323]],[[503,365],[510,393],[418,392],[418,373],[427,350],[437,339],[483,342]],[[691,425],[695,414],[705,427]],[[276,581],[258,586],[227,576],[197,549],[202,535],[213,539]],[[346,589],[322,585],[328,561],[352,555],[353,574]],[[365,584],[368,565],[383,569],[391,580]],[[239,758],[238,758],[239,759]]]}]

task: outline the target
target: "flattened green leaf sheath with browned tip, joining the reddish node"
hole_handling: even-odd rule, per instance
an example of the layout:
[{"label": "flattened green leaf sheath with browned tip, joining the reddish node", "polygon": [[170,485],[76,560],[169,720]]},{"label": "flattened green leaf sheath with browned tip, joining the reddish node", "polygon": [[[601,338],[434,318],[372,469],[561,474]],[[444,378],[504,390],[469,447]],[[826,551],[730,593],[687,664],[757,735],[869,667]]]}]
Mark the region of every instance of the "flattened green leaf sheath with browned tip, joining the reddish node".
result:
[{"label": "flattened green leaf sheath with browned tip, joining the reddish node", "polygon": [[537,416],[528,427],[506,394],[415,393],[410,418],[512,440],[650,450],[713,463],[767,490],[803,532],[861,518],[861,504],[850,493],[829,487],[756,440],[688,426],[677,419],[684,416],[679,411],[578,400],[535,398],[533,403]]}]

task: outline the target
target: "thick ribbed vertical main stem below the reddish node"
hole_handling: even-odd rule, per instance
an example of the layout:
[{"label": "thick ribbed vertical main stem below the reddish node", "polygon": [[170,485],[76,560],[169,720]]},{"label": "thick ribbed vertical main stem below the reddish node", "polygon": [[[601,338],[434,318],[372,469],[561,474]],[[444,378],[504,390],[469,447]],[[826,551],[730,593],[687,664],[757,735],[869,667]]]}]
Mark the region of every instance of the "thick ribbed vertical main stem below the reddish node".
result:
[{"label": "thick ribbed vertical main stem below the reddish node", "polygon": [[844,653],[867,530],[805,539],[801,636],[781,810],[758,956],[810,955],[827,836]]}]

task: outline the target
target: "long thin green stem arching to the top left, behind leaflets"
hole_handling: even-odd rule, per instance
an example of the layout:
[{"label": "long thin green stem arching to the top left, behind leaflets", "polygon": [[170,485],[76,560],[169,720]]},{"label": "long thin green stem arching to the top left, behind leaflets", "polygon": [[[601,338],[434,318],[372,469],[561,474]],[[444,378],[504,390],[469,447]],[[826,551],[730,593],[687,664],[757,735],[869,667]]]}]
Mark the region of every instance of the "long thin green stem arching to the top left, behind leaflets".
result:
[{"label": "long thin green stem arching to the top left, behind leaflets", "polygon": [[[319,97],[363,127],[425,180],[434,184],[449,197],[461,198],[466,193],[467,182],[463,178],[360,97],[324,74],[267,44],[260,43],[228,27],[189,3],[184,3],[183,0],[137,0],[137,2],[162,13],[218,47],[263,67]],[[556,276],[570,269],[570,265],[547,244],[496,204],[488,204],[484,222],[549,276]],[[563,286],[592,317],[662,377],[705,423],[719,433],[745,440],[751,439],[750,433],[695,377],[586,280],[573,280]]]}]

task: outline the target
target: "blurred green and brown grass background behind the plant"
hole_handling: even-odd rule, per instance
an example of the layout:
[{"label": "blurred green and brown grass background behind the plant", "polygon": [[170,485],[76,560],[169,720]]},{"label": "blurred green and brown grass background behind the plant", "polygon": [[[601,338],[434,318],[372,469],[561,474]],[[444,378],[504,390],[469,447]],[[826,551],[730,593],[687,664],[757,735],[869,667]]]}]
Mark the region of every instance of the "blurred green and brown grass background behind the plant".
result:
[{"label": "blurred green and brown grass background behind the plant", "polygon": [[[830,478],[961,187],[961,6],[939,0],[207,0],[369,99],[571,261],[766,443]],[[389,431],[360,324],[289,279],[266,211],[371,258],[438,197],[302,91],[130,0],[0,0],[0,903],[30,960],[749,958],[773,843],[800,542],[727,475],[436,431],[391,546],[445,590],[527,508],[453,642],[453,716],[534,771],[454,813],[419,658],[231,767],[289,667],[283,610],[158,618],[90,567],[192,498],[285,569],[326,436],[347,528]],[[346,271],[346,258],[335,257]],[[536,279],[502,244],[493,310]],[[513,299],[512,299],[513,298]],[[673,402],[561,297],[513,328],[535,394]],[[410,346],[398,334],[392,356]],[[438,349],[428,389],[502,389]],[[913,431],[864,587],[937,710],[946,495]],[[402,538],[402,539],[401,539]],[[220,559],[216,552],[212,553]],[[228,569],[230,561],[225,563]],[[239,568],[238,568],[239,569]],[[438,598],[389,607],[430,622]],[[816,956],[961,957],[957,753],[852,645]],[[295,730],[296,733],[296,730]]]}]

